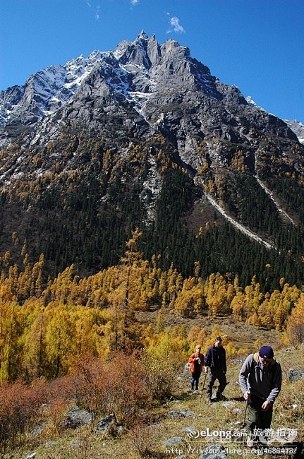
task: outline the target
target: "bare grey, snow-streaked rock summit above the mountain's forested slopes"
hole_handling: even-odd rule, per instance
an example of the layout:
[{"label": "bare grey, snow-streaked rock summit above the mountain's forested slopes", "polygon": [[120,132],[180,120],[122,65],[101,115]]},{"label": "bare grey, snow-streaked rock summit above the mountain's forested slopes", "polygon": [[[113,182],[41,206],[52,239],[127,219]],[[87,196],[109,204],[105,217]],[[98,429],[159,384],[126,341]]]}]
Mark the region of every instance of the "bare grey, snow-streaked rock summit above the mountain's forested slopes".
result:
[{"label": "bare grey, snow-streaked rock summit above the mountain's forested slopes", "polygon": [[131,129],[160,131],[178,148],[193,136],[248,142],[255,127],[296,140],[284,121],[250,107],[238,88],[220,83],[187,47],[171,39],[159,44],[142,30],[114,51],[49,66],[25,85],[2,91],[1,145],[28,126],[38,124],[36,131],[47,133],[46,118],[61,124],[78,119],[94,129],[103,114],[122,112]]}]

